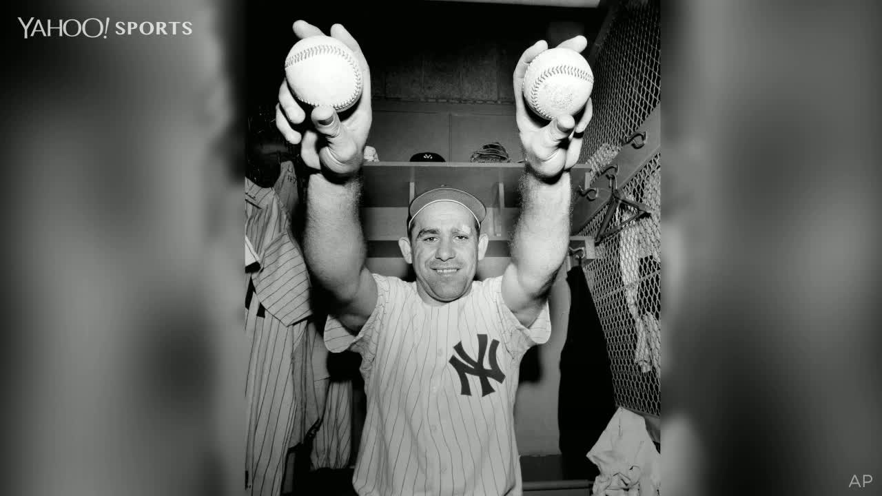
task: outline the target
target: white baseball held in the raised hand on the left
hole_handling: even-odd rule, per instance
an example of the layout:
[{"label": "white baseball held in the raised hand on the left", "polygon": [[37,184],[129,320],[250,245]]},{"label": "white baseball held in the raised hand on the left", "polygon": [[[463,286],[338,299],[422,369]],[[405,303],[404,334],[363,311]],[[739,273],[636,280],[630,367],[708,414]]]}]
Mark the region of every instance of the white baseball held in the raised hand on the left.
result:
[{"label": "white baseball held in the raised hand on the left", "polygon": [[342,41],[310,36],[297,41],[285,59],[285,78],[297,100],[311,107],[346,110],[362,96],[362,68]]}]

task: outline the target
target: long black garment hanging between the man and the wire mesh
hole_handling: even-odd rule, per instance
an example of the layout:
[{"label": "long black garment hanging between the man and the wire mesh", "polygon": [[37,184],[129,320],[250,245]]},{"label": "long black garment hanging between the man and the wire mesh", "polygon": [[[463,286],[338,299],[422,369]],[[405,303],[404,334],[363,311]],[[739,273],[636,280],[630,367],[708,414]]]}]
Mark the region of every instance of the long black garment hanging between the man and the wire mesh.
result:
[{"label": "long black garment hanging between the man and the wire mesh", "polygon": [[573,472],[594,471],[585,454],[616,412],[606,338],[582,267],[566,274],[570,286],[570,320],[560,354],[557,400],[559,447],[564,465]]}]

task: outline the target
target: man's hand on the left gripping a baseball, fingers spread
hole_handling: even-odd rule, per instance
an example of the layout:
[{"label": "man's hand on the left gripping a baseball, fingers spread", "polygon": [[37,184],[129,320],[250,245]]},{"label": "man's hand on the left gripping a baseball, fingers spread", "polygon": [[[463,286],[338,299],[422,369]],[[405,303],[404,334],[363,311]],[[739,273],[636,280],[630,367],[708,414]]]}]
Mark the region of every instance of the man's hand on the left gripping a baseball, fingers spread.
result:
[{"label": "man's hand on the left gripping a baseball, fingers spread", "polygon": [[[294,33],[301,39],[323,34],[318,27],[303,20],[294,23]],[[288,81],[283,80],[275,122],[289,143],[302,143],[300,153],[308,167],[321,169],[333,178],[348,178],[355,176],[362,167],[364,144],[370,132],[370,69],[361,47],[345,27],[331,26],[331,36],[352,49],[362,67],[361,99],[342,120],[332,107],[320,106],[312,109],[310,122],[304,122],[306,113],[291,93]]]}]

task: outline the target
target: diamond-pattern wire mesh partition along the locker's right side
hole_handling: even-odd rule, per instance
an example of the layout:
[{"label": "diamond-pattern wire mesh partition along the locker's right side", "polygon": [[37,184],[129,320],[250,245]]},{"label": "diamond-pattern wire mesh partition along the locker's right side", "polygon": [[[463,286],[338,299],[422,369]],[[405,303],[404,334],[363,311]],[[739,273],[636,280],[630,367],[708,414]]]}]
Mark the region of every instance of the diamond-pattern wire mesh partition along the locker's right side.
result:
[{"label": "diamond-pattern wire mesh partition along the locker's right side", "polygon": [[[586,132],[582,161],[602,169],[660,100],[660,9],[656,1],[620,4],[592,64],[594,118]],[[655,154],[621,195],[647,205],[652,214],[632,222],[596,246],[586,274],[612,367],[619,406],[661,414],[661,154]],[[596,235],[609,207],[581,235]],[[637,212],[622,205],[610,225]]]}]

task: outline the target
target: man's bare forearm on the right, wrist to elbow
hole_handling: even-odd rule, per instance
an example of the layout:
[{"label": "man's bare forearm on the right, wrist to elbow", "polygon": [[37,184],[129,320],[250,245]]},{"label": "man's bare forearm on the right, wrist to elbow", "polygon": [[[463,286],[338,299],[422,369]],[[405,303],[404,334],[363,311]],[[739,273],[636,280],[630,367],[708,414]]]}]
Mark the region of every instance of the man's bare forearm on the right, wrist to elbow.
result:
[{"label": "man's bare forearm on the right, wrist to elbow", "polygon": [[521,207],[512,239],[512,266],[520,288],[545,296],[564,260],[570,240],[570,173],[553,182],[526,172],[520,179]]}]

